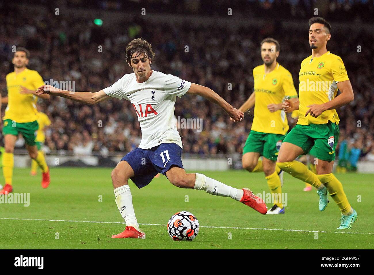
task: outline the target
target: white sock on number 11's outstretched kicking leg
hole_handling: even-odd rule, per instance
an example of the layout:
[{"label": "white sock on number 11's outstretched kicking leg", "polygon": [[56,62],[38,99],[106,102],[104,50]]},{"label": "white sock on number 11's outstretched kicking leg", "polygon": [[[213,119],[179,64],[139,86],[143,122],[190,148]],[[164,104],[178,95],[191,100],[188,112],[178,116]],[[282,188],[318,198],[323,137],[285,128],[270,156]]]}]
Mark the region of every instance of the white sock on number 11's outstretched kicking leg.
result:
[{"label": "white sock on number 11's outstretched kicking leg", "polygon": [[195,186],[193,189],[205,190],[206,193],[216,196],[230,197],[240,201],[243,190],[228,186],[220,181],[206,177],[206,175],[196,173]]}]

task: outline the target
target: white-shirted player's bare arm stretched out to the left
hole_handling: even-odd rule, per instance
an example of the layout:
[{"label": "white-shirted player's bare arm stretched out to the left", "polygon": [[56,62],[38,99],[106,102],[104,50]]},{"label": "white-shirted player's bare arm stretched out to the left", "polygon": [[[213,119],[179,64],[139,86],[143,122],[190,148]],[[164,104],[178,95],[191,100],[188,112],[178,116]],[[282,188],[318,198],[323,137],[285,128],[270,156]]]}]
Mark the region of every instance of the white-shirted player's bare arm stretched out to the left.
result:
[{"label": "white-shirted player's bare arm stretched out to the left", "polygon": [[98,92],[71,92],[57,89],[51,85],[42,85],[37,90],[38,95],[50,94],[58,97],[64,97],[80,103],[93,105],[110,98],[104,90]]}]

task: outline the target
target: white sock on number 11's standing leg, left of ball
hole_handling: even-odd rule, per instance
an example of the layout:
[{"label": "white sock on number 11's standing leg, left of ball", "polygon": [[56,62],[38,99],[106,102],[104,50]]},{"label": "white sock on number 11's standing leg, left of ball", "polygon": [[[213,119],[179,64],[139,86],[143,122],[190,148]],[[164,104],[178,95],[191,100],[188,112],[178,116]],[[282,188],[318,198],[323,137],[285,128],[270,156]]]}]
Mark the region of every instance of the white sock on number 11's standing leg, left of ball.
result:
[{"label": "white sock on number 11's standing leg, left of ball", "polygon": [[114,189],[114,196],[116,196],[116,204],[119,212],[125,220],[126,226],[135,227],[140,231],[137,218],[135,217],[134,207],[132,206],[132,196],[130,186],[125,184]]}]

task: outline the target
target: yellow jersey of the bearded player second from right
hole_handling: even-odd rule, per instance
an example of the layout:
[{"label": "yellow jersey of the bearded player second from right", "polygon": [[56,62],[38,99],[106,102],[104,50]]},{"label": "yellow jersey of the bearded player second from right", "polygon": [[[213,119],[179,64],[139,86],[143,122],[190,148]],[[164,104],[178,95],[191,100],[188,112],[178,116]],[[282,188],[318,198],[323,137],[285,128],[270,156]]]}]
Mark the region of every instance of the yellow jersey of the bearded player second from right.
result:
[{"label": "yellow jersey of the bearded player second from right", "polygon": [[267,109],[269,104],[280,104],[285,96],[297,97],[291,73],[277,65],[270,73],[265,73],[265,65],[253,69],[255,109],[251,130],[269,134],[285,135],[288,131],[286,113]]}]

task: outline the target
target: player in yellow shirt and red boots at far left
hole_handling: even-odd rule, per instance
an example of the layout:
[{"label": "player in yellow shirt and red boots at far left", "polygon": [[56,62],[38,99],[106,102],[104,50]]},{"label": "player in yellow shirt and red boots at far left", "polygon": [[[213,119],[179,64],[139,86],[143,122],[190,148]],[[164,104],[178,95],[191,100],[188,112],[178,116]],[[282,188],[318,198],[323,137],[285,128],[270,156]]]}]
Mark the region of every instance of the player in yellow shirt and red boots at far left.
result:
[{"label": "player in yellow shirt and red boots at far left", "polygon": [[[42,187],[47,188],[50,183],[49,169],[42,153],[38,152],[35,142],[35,133],[38,129],[38,111],[36,109],[36,90],[44,85],[42,77],[37,71],[29,70],[30,53],[25,48],[16,48],[12,63],[14,71],[7,74],[6,85],[8,90],[8,106],[3,117],[3,135],[5,152],[3,155],[3,175],[5,185],[0,195],[7,195],[13,191],[13,150],[19,133],[25,139],[26,148],[43,172]],[[40,95],[40,98],[49,99],[50,95]]]}]

